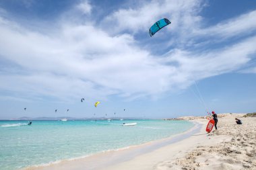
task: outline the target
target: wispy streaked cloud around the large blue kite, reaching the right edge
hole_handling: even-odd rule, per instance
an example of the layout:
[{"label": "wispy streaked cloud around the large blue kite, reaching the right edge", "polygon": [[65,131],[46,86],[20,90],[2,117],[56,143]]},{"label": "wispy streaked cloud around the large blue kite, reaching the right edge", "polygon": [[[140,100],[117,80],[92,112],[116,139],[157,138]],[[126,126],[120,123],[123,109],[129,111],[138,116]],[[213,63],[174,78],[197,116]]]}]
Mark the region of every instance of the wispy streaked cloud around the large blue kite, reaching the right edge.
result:
[{"label": "wispy streaked cloud around the large blue kite, reaching the right edge", "polygon": [[[164,42],[167,46],[204,46],[210,42],[222,42],[228,38],[248,36],[256,30],[256,11],[227,19],[213,26],[206,26],[205,18],[200,11],[205,2],[191,1],[150,1],[138,3],[134,8],[119,9],[104,18],[103,27],[111,34],[125,31],[136,34],[148,32],[154,22],[163,17],[170,19],[172,24],[158,34],[166,34],[175,38]],[[200,40],[204,39],[204,40]],[[199,41],[199,42],[198,42]]]}]

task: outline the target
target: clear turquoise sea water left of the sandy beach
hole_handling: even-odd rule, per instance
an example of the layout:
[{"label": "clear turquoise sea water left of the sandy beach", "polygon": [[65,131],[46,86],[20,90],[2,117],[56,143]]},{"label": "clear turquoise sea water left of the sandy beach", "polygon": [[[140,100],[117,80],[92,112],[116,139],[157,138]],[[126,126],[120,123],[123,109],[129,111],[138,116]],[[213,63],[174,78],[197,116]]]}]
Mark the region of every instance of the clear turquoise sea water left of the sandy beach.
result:
[{"label": "clear turquoise sea water left of the sandy beach", "polygon": [[[136,126],[121,124],[137,122]],[[185,132],[191,122],[164,120],[0,121],[0,169],[21,169],[143,144]]]}]

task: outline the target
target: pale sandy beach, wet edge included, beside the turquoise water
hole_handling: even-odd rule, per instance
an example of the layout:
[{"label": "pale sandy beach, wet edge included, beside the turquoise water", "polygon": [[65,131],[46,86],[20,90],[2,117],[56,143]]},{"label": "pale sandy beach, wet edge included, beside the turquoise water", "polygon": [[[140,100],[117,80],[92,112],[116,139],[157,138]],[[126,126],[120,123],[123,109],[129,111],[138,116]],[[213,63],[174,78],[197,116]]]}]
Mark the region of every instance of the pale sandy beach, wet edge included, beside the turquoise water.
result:
[{"label": "pale sandy beach, wet edge included, beside the turquoise water", "polygon": [[256,117],[243,116],[218,114],[210,134],[205,117],[183,117],[195,127],[172,138],[27,169],[256,169]]}]

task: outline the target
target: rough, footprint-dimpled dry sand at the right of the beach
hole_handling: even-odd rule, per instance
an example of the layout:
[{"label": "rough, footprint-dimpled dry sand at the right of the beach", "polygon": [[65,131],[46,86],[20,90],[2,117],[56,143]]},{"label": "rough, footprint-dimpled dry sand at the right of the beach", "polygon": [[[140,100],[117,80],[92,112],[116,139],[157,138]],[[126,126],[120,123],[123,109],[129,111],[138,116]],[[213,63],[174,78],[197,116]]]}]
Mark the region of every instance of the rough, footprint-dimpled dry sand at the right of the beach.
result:
[{"label": "rough, footprint-dimpled dry sand at the right of the beach", "polygon": [[[240,118],[242,125],[234,122]],[[230,114],[219,118],[218,130],[208,136],[222,136],[222,142],[197,146],[185,157],[165,162],[158,169],[256,169],[256,118]]]}]

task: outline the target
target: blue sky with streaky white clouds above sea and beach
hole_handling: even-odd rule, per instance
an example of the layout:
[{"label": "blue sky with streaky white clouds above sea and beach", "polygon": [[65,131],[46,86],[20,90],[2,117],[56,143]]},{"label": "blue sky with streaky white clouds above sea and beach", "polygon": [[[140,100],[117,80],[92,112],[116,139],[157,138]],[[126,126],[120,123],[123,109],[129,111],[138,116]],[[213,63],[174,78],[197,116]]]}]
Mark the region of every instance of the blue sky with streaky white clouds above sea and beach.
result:
[{"label": "blue sky with streaky white clouds above sea and beach", "polygon": [[0,1],[0,119],[251,113],[255,84],[256,1]]}]

